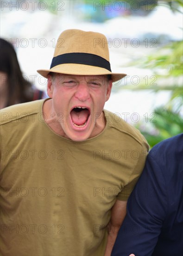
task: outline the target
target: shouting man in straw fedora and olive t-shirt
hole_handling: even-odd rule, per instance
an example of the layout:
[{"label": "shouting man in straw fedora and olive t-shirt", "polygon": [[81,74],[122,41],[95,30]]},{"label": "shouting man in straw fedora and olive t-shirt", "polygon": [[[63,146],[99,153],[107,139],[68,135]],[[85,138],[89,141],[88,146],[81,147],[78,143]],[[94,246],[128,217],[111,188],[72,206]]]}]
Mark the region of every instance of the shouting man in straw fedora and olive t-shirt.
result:
[{"label": "shouting man in straw fedora and olive t-shirt", "polygon": [[[114,74],[106,37],[66,30],[49,70],[49,99],[1,113],[1,251],[110,255],[148,144],[103,110]],[[10,242],[11,241],[11,242]]]}]

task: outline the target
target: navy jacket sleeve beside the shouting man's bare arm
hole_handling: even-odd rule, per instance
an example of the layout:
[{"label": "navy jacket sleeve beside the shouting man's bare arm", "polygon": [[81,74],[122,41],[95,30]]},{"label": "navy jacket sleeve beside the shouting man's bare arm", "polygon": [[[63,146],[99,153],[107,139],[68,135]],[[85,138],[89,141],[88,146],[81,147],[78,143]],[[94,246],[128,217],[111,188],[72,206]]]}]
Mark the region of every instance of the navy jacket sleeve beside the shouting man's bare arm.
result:
[{"label": "navy jacket sleeve beside the shouting man's bare arm", "polygon": [[111,256],[151,256],[167,212],[164,175],[150,151],[142,175],[127,202],[126,218]]}]

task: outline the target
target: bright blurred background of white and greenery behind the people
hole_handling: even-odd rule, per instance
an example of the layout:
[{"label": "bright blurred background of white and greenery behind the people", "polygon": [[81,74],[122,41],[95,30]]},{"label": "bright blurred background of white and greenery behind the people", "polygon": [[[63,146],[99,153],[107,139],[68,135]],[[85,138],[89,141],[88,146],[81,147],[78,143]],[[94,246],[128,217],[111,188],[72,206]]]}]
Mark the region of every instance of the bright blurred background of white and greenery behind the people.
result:
[{"label": "bright blurred background of white and greenery behind the people", "polygon": [[105,34],[113,84],[105,108],[140,129],[152,147],[183,132],[183,0],[0,1],[0,37],[13,44],[22,73],[47,81],[59,34],[77,28]]}]

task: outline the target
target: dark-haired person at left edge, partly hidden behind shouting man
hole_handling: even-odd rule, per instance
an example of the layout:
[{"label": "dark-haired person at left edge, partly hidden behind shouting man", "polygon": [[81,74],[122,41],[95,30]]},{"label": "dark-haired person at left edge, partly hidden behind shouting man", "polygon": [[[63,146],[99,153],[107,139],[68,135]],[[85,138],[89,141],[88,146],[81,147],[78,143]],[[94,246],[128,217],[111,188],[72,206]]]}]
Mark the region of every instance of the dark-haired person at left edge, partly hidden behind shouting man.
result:
[{"label": "dark-haired person at left edge, partly hidden behind shouting man", "polygon": [[0,38],[0,108],[42,98],[44,91],[23,77],[13,45]]}]

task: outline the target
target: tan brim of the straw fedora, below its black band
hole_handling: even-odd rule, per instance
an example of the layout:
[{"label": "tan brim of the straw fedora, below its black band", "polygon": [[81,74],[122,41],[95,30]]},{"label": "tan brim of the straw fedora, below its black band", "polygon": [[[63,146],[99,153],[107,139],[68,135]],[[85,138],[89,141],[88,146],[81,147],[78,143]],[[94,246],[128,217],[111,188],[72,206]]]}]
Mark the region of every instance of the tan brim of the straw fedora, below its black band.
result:
[{"label": "tan brim of the straw fedora, below its black band", "polygon": [[96,67],[84,64],[66,63],[60,64],[51,69],[38,69],[37,72],[47,78],[50,72],[60,74],[73,74],[73,75],[107,75],[110,74],[112,81],[116,82],[126,76],[126,74],[112,73],[103,67]]}]

